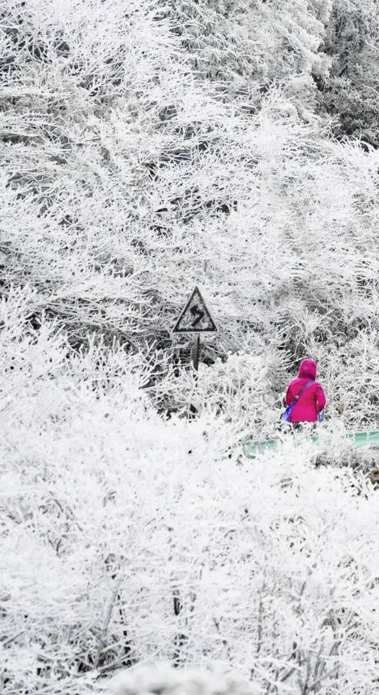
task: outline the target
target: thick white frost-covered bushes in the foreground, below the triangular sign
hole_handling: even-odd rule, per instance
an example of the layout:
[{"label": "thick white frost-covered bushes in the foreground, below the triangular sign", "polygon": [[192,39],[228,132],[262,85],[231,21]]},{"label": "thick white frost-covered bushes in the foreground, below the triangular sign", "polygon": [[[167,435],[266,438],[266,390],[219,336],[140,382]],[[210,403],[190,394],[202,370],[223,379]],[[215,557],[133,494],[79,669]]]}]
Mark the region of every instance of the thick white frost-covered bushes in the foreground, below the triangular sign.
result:
[{"label": "thick white frost-covered bushes in the foreground, below the triangular sign", "polygon": [[45,320],[31,329],[24,295],[0,307],[7,691],[84,695],[147,659],[218,664],[263,693],[374,695],[368,479],[314,467],[301,437],[244,459],[211,410],[164,420],[143,359],[73,355]]}]

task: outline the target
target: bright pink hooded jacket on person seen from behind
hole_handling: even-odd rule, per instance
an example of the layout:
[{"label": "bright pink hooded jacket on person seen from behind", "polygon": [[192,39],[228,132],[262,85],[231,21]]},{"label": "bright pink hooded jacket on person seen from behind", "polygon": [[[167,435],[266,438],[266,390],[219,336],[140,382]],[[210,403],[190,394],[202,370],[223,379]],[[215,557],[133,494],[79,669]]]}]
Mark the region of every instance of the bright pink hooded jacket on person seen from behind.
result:
[{"label": "bright pink hooded jacket on person seen from behind", "polygon": [[316,423],[317,413],[324,410],[326,396],[324,388],[315,381],[317,374],[316,362],[313,359],[304,359],[299,368],[299,376],[291,381],[287,389],[286,403],[291,405],[292,400],[304,388],[308,381],[314,381],[311,386],[301,393],[291,412],[292,423]]}]

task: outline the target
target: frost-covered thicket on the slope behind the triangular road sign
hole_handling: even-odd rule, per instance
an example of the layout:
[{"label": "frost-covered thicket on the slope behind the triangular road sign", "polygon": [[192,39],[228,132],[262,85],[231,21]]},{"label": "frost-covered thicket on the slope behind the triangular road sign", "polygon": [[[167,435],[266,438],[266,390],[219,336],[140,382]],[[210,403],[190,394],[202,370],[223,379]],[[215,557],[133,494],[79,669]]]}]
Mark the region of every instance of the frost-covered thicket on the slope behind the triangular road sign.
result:
[{"label": "frost-covered thicket on the slope behind the triangular road sign", "polygon": [[314,112],[330,3],[226,5],[0,2],[2,292],[30,285],[32,324],[46,312],[74,349],[102,335],[186,361],[171,329],[198,284],[208,363],[252,355],[275,403],[314,356],[329,412],[370,427],[378,152]]}]

